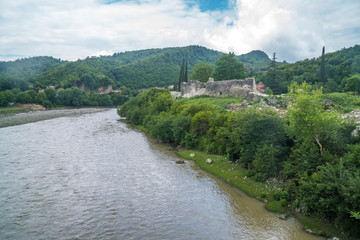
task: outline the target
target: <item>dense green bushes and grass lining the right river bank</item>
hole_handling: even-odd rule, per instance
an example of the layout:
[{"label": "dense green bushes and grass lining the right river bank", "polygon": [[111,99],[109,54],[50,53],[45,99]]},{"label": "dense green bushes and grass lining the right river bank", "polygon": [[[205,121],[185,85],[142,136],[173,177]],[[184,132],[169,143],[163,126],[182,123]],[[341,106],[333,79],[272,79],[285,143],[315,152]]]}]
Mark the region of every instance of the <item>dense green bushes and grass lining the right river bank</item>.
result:
[{"label": "dense green bushes and grass lining the right river bank", "polygon": [[[270,108],[224,108],[243,99],[174,100],[167,90],[151,89],[130,99],[118,114],[162,142],[197,150],[192,158],[190,151],[179,154],[268,201],[269,210],[300,212],[300,220],[320,234],[329,223],[359,238],[360,139],[356,124],[327,110],[322,98],[321,89],[293,83],[282,116]],[[215,154],[213,163],[205,162],[207,154]],[[268,179],[278,183],[261,183]],[[316,216],[321,224],[306,216]]]}]

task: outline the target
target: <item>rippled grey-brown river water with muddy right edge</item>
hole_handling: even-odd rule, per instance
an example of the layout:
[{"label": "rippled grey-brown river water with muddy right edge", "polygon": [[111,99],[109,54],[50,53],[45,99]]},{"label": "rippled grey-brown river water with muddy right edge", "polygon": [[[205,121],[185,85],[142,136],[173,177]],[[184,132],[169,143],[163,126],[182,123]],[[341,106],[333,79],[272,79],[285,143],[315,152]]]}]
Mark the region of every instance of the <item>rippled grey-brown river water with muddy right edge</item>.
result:
[{"label": "rippled grey-brown river water with muddy right edge", "polygon": [[0,239],[321,239],[118,120],[0,128]]}]

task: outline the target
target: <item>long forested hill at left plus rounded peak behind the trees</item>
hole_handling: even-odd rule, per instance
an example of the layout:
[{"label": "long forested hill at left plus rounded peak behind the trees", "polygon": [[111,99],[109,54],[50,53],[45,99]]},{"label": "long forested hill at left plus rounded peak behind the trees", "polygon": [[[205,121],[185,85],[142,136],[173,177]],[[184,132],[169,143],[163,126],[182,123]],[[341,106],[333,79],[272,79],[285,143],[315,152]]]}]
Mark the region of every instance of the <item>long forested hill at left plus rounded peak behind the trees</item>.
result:
[{"label": "long forested hill at left plus rounded peak behind the trees", "polygon": [[[75,62],[52,57],[0,62],[0,90],[82,84],[90,90],[109,84],[133,89],[176,85],[183,59],[188,61],[190,74],[199,61],[215,65],[221,54],[201,46],[188,46],[129,51]],[[258,50],[236,57],[252,69],[267,68],[270,63],[269,57]]]}]

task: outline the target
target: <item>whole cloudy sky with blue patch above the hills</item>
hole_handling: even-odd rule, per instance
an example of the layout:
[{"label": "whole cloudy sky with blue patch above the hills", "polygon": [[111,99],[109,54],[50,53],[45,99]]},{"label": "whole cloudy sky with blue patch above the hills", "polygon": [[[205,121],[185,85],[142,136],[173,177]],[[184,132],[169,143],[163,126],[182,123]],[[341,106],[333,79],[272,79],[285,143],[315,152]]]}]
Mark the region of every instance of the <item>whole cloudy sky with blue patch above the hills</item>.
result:
[{"label": "whole cloudy sky with blue patch above the hills", "polygon": [[0,60],[201,45],[294,62],[360,44],[359,0],[0,0]]}]

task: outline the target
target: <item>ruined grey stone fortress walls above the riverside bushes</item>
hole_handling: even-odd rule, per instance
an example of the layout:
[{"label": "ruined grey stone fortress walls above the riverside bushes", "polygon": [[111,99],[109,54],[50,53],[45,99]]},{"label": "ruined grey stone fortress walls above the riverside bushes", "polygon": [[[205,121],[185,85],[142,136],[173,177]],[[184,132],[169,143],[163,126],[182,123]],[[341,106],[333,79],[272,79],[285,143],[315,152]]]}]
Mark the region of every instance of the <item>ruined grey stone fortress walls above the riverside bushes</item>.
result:
[{"label": "ruined grey stone fortress walls above the riverside bushes", "polygon": [[234,79],[225,81],[216,81],[209,78],[204,83],[197,80],[181,83],[181,96],[190,98],[194,96],[208,95],[210,97],[243,97],[248,100],[255,100],[265,96],[256,89],[254,78]]}]

